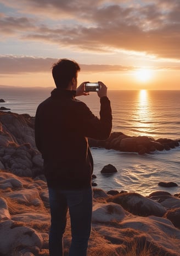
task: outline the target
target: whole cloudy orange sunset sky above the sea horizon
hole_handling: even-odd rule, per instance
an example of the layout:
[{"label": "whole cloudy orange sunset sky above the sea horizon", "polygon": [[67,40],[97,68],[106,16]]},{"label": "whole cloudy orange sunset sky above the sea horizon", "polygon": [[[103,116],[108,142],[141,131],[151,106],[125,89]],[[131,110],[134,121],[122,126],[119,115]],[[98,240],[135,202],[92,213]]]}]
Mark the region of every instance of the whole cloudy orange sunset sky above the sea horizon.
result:
[{"label": "whole cloudy orange sunset sky above the sea horizon", "polygon": [[0,85],[52,87],[59,58],[78,83],[180,89],[179,0],[0,0]]}]

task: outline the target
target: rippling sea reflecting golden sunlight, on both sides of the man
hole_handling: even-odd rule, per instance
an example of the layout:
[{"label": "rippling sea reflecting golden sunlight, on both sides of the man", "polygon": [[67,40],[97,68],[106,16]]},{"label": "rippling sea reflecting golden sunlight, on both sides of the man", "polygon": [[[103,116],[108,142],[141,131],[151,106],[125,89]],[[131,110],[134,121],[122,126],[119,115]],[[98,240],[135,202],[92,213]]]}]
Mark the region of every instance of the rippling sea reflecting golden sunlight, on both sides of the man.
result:
[{"label": "rippling sea reflecting golden sunlight, on both sides of the man", "polygon": [[[0,87],[1,106],[18,114],[35,116],[36,108],[50,95],[53,88]],[[149,136],[180,139],[180,90],[109,90],[112,107],[112,132],[120,131],[129,136]],[[81,96],[92,112],[99,116],[97,93]],[[137,153],[91,148],[97,188],[132,191],[144,196],[163,190],[180,193],[180,147],[170,151],[156,151],[143,156]],[[117,173],[103,175],[106,164],[116,167]],[[159,182],[175,182],[177,187],[162,188]]]}]

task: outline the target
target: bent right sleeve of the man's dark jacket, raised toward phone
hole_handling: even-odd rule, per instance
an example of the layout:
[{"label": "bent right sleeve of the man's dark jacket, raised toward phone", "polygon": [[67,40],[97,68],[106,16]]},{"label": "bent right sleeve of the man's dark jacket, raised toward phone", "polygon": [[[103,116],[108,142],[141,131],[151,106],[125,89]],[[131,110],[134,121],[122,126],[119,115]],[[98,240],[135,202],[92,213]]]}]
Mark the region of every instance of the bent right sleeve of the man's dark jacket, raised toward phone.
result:
[{"label": "bent right sleeve of the man's dark jacket, raised toward phone", "polygon": [[108,97],[100,98],[100,119],[93,115],[86,104],[83,104],[81,113],[83,134],[86,137],[105,140],[110,136],[112,113]]}]

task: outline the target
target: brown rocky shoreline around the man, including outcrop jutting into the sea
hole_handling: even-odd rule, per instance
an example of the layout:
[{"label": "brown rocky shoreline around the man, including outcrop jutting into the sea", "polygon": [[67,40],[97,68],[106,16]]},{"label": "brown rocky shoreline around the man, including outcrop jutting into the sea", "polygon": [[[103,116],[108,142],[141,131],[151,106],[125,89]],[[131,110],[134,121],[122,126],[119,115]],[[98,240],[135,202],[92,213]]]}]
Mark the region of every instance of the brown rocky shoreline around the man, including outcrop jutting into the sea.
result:
[{"label": "brown rocky shoreline around the man, including outcrop jutting into the sea", "polygon": [[[49,255],[48,189],[42,174],[41,154],[35,146],[33,127],[34,118],[27,114],[0,111],[1,256]],[[155,150],[162,150],[162,146],[164,150],[173,145],[179,146],[178,140],[155,141],[121,133],[113,133],[103,142],[89,140],[89,143],[95,147],[138,153],[147,153],[148,146],[145,145],[151,145],[151,150],[155,145],[159,146]],[[97,188],[93,192],[89,256],[139,256],[140,252],[146,256],[180,255],[180,191],[176,195],[154,191],[149,196]],[[68,255],[70,237],[68,216],[65,256]]]}]

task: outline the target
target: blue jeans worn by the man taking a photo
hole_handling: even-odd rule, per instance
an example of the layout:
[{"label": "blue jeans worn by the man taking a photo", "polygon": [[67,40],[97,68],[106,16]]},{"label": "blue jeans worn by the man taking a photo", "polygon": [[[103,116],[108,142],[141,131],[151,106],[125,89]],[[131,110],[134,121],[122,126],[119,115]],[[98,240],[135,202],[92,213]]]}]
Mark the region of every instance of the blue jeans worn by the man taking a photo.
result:
[{"label": "blue jeans worn by the man taking a photo", "polygon": [[72,236],[69,256],[86,256],[91,234],[92,189],[49,188],[49,204],[51,214],[49,256],[63,256],[63,234],[68,208]]}]

